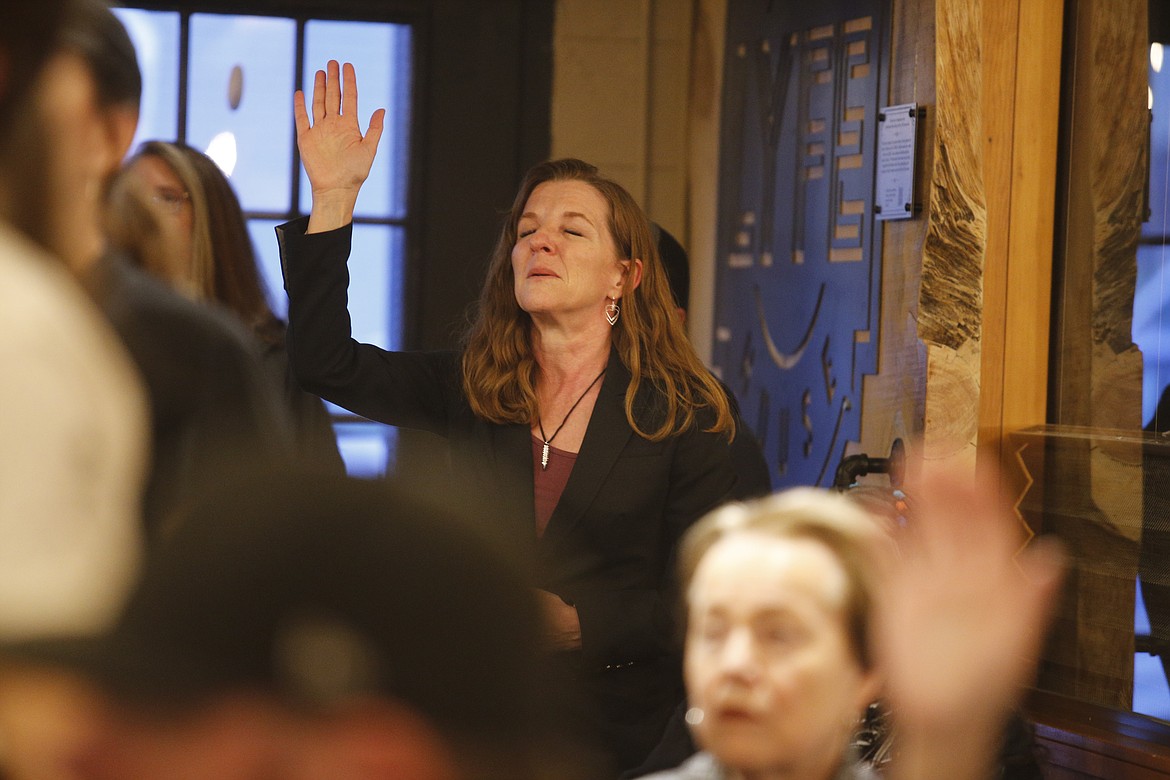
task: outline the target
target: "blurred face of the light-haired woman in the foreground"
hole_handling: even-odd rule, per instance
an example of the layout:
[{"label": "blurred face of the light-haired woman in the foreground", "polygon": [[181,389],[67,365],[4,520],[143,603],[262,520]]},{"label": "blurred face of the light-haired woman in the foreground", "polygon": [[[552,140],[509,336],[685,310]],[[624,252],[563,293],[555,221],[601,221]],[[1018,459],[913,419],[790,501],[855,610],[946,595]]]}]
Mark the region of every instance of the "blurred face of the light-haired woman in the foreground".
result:
[{"label": "blurred face of the light-haired woman in the foreground", "polygon": [[811,539],[741,532],[708,550],[686,655],[688,720],[706,750],[742,772],[831,776],[876,695],[846,629],[847,592],[840,561]]}]

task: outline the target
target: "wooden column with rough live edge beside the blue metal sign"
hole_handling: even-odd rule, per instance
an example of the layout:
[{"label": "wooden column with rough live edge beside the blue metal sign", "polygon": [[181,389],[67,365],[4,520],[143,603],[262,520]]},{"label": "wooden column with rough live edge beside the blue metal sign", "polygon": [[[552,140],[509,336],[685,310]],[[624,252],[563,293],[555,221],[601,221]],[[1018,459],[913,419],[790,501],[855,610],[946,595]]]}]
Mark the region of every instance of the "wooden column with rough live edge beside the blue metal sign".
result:
[{"label": "wooden column with rough live edge beside the blue metal sign", "polygon": [[[890,103],[928,109],[922,218],[885,226],[862,447],[971,468],[1045,422],[1060,0],[899,0]],[[1026,30],[1026,35],[1021,33]]]}]

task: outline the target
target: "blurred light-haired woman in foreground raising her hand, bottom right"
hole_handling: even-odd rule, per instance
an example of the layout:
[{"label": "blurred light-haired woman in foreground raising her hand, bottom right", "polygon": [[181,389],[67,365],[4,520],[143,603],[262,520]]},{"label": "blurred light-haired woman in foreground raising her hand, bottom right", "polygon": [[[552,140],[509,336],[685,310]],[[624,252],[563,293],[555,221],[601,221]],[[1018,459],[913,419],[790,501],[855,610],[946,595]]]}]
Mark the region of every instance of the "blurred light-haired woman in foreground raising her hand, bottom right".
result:
[{"label": "blurred light-haired woman in foreground raising her hand, bottom right", "polygon": [[680,551],[686,678],[702,752],[654,780],[865,780],[852,748],[890,704],[885,776],[993,776],[1060,580],[994,485],[935,476],[897,539],[851,501],[803,488],[731,504]]}]

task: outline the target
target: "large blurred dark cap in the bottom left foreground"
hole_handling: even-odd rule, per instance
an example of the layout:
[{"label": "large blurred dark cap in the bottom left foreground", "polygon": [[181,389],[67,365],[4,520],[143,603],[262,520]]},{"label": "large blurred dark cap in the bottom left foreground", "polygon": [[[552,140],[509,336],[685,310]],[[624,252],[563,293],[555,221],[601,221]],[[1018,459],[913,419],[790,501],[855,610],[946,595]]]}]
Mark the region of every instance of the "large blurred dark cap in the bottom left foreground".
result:
[{"label": "large blurred dark cap in the bottom left foreground", "polygon": [[199,506],[97,637],[9,648],[117,696],[259,690],[301,706],[381,696],[441,732],[530,738],[539,613],[468,525],[386,483],[283,475]]}]

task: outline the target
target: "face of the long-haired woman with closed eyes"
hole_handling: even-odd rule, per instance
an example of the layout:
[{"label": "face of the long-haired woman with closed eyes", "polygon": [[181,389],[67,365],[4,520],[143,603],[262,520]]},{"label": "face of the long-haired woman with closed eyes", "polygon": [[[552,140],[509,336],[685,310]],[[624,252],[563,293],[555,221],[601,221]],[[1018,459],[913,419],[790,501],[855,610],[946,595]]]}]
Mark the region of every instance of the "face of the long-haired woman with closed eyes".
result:
[{"label": "face of the long-haired woman with closed eyes", "polygon": [[524,205],[511,262],[516,301],[542,317],[596,317],[607,297],[621,297],[629,261],[610,235],[610,206],[583,181],[545,181]]}]

